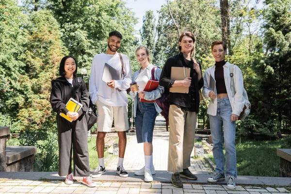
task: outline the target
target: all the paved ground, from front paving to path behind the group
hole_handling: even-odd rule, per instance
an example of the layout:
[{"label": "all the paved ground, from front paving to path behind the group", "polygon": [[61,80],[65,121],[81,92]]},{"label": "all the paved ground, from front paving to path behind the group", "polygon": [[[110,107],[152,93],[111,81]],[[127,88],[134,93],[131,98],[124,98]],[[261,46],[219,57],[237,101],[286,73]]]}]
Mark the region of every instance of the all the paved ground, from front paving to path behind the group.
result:
[{"label": "all the paved ground, from front paving to path behind the group", "polygon": [[157,117],[154,132],[156,175],[151,183],[144,182],[143,176],[134,175],[134,170],[144,166],[143,144],[137,144],[135,134],[128,133],[124,159],[128,178],[116,174],[118,157],[112,156],[106,162],[107,173],[94,178],[95,188],[81,184],[81,177],[75,177],[74,184],[66,185],[65,178],[59,177],[57,172],[0,172],[0,194],[291,194],[291,178],[239,176],[236,179],[238,186],[232,191],[226,189],[226,180],[209,184],[210,167],[203,159],[191,159],[190,170],[197,175],[197,180],[181,178],[184,187],[173,187],[171,174],[166,171],[168,132],[161,120]]}]

